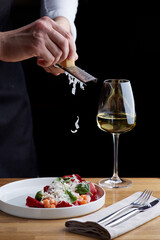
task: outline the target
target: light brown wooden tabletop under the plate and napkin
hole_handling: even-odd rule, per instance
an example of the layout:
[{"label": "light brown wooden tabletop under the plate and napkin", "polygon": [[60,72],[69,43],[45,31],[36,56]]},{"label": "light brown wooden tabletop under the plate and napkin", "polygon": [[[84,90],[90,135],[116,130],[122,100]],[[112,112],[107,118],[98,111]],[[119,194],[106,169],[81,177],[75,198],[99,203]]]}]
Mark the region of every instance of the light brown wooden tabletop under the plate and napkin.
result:
[{"label": "light brown wooden tabletop under the plate and napkin", "polygon": [[[0,186],[19,179],[0,179]],[[87,179],[94,183],[98,178]],[[160,197],[160,178],[132,178],[133,185],[124,189],[107,189],[106,203],[109,206],[137,191],[153,190]],[[73,234],[65,229],[65,220],[31,220],[10,216],[0,211],[0,240],[94,240],[95,238]],[[126,233],[116,240],[160,239],[160,217]]]}]

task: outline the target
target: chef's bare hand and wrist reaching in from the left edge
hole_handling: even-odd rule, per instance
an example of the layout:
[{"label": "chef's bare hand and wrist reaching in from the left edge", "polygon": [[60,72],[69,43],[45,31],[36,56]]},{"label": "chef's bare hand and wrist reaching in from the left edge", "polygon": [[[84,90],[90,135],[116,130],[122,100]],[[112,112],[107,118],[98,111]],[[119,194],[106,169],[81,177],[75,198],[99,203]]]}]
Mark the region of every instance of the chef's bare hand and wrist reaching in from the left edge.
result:
[{"label": "chef's bare hand and wrist reaching in from the left edge", "polygon": [[0,33],[0,60],[17,62],[37,57],[37,64],[55,75],[55,63],[78,58],[70,33],[68,20],[59,17],[52,20],[42,17],[35,22],[8,32]]}]

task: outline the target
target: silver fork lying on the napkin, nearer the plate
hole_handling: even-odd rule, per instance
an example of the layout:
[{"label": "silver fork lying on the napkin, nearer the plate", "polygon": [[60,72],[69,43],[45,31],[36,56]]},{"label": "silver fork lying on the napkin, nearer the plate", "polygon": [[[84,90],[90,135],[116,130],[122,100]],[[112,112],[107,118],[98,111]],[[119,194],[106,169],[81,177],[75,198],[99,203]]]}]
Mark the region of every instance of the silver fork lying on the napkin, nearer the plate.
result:
[{"label": "silver fork lying on the napkin, nearer the plate", "polygon": [[153,191],[149,191],[149,190],[144,190],[141,195],[134,200],[133,202],[131,202],[129,205],[126,205],[122,208],[120,208],[119,210],[111,213],[110,215],[100,219],[99,221],[97,221],[98,223],[102,224],[105,221],[109,221],[111,219],[113,219],[114,217],[116,217],[117,215],[119,215],[121,212],[123,212],[124,210],[130,209],[130,208],[138,208],[138,207],[143,207],[149,200],[150,196],[152,195]]}]

